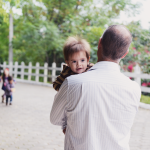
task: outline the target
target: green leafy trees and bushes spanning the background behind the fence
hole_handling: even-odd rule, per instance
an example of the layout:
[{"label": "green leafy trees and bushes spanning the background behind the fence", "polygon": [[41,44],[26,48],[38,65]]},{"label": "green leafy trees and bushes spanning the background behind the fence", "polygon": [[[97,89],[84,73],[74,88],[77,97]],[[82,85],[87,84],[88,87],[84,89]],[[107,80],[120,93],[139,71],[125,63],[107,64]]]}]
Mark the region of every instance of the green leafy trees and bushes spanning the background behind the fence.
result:
[{"label": "green leafy trees and bushes spanning the background behind the fence", "polygon": [[[1,3],[3,2],[3,3]],[[100,0],[100,5],[92,0],[0,0],[0,4],[10,8],[21,8],[22,15],[14,14],[14,61],[28,63],[53,61],[60,64],[63,59],[63,44],[68,36],[79,35],[91,45],[91,62],[97,61],[98,40],[105,28],[114,23],[121,11],[129,14],[138,12],[138,4],[130,0]],[[0,12],[4,12],[3,6]],[[1,10],[3,9],[3,10]],[[5,14],[6,11],[5,11]],[[8,58],[8,19],[3,13],[0,18],[0,61]],[[131,62],[148,63],[148,55],[136,55],[143,52],[145,47],[149,51],[148,31],[143,30],[139,23],[128,25],[133,34],[133,43],[129,55],[122,61],[123,65]],[[2,32],[3,31],[3,32]],[[140,36],[139,36],[140,35]],[[139,42],[140,40],[140,42]],[[133,51],[133,48],[136,51]],[[147,57],[147,59],[145,59]],[[145,68],[146,69],[146,68]]]}]

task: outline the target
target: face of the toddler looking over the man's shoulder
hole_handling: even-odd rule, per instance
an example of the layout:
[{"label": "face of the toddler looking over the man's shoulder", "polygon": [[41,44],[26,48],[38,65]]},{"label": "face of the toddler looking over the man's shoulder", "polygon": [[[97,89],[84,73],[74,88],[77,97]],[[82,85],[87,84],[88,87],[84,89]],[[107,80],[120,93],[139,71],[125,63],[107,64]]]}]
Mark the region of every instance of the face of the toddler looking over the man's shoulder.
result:
[{"label": "face of the toddler looking over the man's shoulder", "polygon": [[79,74],[86,70],[89,59],[87,59],[85,51],[80,51],[70,56],[66,63],[73,72]]}]

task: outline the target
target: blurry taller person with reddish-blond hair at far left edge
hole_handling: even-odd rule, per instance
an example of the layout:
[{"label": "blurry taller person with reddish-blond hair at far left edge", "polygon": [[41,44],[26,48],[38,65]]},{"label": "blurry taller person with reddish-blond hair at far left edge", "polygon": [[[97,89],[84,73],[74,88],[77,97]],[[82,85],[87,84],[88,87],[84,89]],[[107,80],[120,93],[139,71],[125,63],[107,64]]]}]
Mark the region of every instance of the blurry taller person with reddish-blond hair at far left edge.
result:
[{"label": "blurry taller person with reddish-blond hair at far left edge", "polygon": [[2,90],[4,91],[4,94],[2,95],[2,103],[4,103],[4,96],[5,96],[5,87],[6,87],[6,83],[9,77],[9,69],[6,68],[4,70],[3,76],[2,76],[2,80],[3,80],[3,84],[2,84]]}]

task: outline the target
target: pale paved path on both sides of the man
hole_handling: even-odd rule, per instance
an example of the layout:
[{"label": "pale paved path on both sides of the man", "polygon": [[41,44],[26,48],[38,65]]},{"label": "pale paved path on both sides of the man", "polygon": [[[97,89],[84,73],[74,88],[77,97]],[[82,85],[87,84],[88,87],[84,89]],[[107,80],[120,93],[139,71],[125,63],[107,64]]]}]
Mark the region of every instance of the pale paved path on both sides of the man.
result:
[{"label": "pale paved path on both sides of the man", "polygon": [[[64,135],[49,121],[55,94],[50,87],[16,84],[13,105],[0,103],[0,150],[63,150]],[[150,110],[139,109],[130,147],[150,150]]]}]

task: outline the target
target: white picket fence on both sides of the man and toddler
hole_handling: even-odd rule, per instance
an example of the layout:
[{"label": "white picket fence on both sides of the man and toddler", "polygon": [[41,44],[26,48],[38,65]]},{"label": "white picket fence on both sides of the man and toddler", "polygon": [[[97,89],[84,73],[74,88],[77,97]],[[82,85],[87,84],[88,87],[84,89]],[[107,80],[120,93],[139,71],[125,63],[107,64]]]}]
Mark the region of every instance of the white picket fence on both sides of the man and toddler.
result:
[{"label": "white picket fence on both sides of the man and toddler", "polygon": [[[20,65],[18,62],[10,63],[9,65],[4,62],[1,64],[1,67],[3,70],[5,68],[9,68],[10,75],[13,75],[15,79],[19,77],[20,80],[24,82],[32,82],[32,83],[45,83],[48,82],[51,83],[55,81],[55,78],[57,77],[56,71],[61,71],[63,68],[63,64],[61,64],[61,67],[57,67],[56,63],[52,63],[52,66],[49,67],[47,63],[44,64],[44,66],[40,66],[39,63],[36,63],[35,66],[32,65],[30,62],[28,66],[22,62]],[[141,69],[139,66],[136,66],[134,68],[134,72],[123,72],[126,76],[134,78],[134,80],[141,86],[141,79],[150,79],[149,74],[143,74],[141,72]],[[25,78],[26,76],[26,78]],[[33,78],[34,77],[34,80]],[[42,82],[39,82],[39,78],[42,77]],[[148,92],[150,93],[150,87],[143,87],[141,86],[142,92]]]}]

